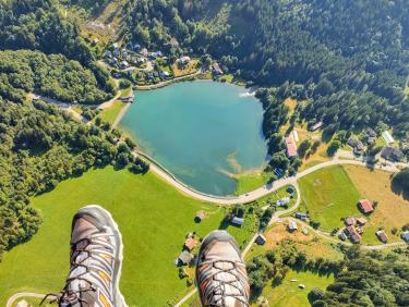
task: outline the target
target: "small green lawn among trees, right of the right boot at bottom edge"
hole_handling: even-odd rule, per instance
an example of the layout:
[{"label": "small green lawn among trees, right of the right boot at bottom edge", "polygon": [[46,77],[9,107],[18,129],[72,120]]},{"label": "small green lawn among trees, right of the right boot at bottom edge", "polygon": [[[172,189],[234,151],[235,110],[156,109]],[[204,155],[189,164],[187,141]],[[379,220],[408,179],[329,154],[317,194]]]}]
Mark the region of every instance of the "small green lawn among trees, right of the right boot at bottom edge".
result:
[{"label": "small green lawn among trees, right of the right boot at bottom edge", "polygon": [[[291,282],[292,279],[297,280],[297,282]],[[325,290],[333,281],[333,275],[318,275],[310,271],[297,272],[290,270],[281,284],[275,287],[268,284],[263,290],[262,296],[268,299],[269,306],[310,306],[308,299],[309,292],[314,287]],[[305,285],[305,288],[298,287],[301,283]],[[256,304],[252,306],[256,306]]]}]

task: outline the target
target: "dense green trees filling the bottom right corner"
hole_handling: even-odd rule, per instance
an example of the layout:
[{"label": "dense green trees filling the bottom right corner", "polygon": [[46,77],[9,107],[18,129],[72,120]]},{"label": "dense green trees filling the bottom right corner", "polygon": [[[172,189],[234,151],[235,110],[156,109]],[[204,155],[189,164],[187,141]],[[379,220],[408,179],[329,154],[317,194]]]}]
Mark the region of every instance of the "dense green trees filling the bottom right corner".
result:
[{"label": "dense green trees filling the bottom right corner", "polygon": [[409,305],[407,256],[350,250],[346,263],[325,293],[310,293],[312,306]]}]

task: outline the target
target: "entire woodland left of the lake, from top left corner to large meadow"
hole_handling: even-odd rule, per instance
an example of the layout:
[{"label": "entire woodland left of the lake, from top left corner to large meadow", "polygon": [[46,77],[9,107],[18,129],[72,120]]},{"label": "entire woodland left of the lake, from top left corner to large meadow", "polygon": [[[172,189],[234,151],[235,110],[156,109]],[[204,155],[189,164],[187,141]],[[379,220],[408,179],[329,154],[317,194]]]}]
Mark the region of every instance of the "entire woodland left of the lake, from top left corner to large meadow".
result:
[{"label": "entire woodland left of the lake, from top left corner to large meadow", "polygon": [[145,173],[149,167],[132,155],[131,139],[118,144],[121,133],[108,123],[85,125],[51,103],[29,99],[35,93],[99,103],[116,91],[76,25],[67,22],[52,1],[2,1],[0,49],[9,49],[0,51],[1,257],[38,230],[40,216],[31,197],[89,168],[112,164]]}]

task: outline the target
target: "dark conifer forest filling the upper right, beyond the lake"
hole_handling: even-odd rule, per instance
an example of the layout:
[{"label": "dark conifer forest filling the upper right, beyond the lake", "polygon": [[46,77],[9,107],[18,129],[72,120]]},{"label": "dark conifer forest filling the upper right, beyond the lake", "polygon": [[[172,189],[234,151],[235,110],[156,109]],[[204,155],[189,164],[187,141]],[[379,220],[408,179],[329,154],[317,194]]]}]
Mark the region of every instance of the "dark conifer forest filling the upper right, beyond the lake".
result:
[{"label": "dark conifer forest filling the upper right, beyond the lake", "polygon": [[[208,53],[249,84],[306,101],[297,115],[309,124],[392,126],[397,137],[409,131],[405,0],[133,0],[123,14],[129,39],[175,54]],[[277,121],[266,112],[269,140]]]}]

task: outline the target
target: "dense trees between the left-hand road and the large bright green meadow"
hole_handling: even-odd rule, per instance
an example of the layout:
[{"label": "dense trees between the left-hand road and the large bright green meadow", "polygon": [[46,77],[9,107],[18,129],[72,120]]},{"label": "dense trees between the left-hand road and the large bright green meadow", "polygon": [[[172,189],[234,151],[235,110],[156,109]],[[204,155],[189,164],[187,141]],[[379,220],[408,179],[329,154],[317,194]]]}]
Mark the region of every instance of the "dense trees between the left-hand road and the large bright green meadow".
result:
[{"label": "dense trees between the left-hand road and the large bright green meadow", "polygon": [[115,146],[100,128],[79,123],[52,105],[0,97],[0,254],[37,231],[39,217],[29,197],[109,163],[130,163],[135,173],[148,170],[127,143]]}]

